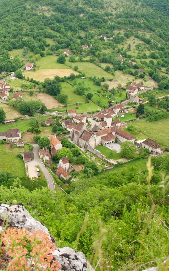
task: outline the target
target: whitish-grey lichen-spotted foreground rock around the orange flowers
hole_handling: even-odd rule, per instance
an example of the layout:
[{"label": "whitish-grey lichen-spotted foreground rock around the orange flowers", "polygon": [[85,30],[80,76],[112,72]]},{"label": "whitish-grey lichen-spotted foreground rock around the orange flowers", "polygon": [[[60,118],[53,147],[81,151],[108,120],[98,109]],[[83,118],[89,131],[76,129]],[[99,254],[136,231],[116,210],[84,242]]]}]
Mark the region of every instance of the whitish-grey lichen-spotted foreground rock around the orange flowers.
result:
[{"label": "whitish-grey lichen-spotted foreground rock around the orange flowers", "polygon": [[[39,221],[35,220],[22,204],[9,206],[7,204],[1,203],[0,231],[4,218],[9,219],[9,227],[25,228],[31,232],[42,230],[49,234],[48,229]],[[54,241],[53,238],[52,241]],[[53,256],[60,263],[61,270],[86,271],[88,269],[90,271],[94,271],[82,252],[75,252],[69,247],[56,248]]]}]

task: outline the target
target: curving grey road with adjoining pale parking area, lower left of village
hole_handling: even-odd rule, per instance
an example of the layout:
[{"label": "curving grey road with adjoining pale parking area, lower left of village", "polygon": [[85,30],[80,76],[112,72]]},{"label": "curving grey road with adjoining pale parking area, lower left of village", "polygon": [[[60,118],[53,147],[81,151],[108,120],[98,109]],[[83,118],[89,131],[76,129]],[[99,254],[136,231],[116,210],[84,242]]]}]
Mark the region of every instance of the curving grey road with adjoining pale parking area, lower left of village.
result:
[{"label": "curving grey road with adjoining pale parking area, lower left of village", "polygon": [[48,188],[55,191],[54,180],[53,180],[52,176],[49,174],[47,168],[42,163],[41,159],[39,158],[39,155],[38,155],[39,146],[38,146],[38,144],[33,144],[33,146],[34,146],[34,150],[33,150],[34,160],[27,163],[29,177],[30,178],[37,177],[36,165],[38,165],[41,168],[41,170],[43,171],[45,178],[47,179]]}]

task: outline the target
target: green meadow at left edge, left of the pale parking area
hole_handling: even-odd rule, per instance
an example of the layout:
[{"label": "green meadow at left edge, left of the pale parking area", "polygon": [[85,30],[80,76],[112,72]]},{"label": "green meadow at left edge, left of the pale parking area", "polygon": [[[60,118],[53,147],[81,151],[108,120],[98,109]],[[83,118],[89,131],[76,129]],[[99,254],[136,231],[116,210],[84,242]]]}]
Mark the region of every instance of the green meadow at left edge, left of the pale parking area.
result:
[{"label": "green meadow at left edge, left of the pale parking area", "polygon": [[24,161],[16,158],[17,153],[23,153],[23,148],[9,149],[6,152],[6,144],[0,145],[0,171],[10,172],[19,177],[25,176]]}]

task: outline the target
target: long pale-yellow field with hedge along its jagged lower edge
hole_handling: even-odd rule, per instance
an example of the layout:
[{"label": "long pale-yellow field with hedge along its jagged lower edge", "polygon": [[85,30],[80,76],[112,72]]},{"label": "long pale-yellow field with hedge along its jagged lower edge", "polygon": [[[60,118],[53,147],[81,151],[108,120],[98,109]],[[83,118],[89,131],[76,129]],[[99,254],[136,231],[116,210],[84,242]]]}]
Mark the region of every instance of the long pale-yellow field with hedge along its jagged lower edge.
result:
[{"label": "long pale-yellow field with hedge along its jagged lower edge", "polygon": [[78,74],[78,72],[75,72],[72,69],[39,69],[35,72],[23,72],[23,75],[26,77],[28,76],[29,78],[33,78],[34,80],[43,82],[45,78],[53,79],[55,75],[64,77],[69,76],[71,73],[74,73],[75,75]]}]

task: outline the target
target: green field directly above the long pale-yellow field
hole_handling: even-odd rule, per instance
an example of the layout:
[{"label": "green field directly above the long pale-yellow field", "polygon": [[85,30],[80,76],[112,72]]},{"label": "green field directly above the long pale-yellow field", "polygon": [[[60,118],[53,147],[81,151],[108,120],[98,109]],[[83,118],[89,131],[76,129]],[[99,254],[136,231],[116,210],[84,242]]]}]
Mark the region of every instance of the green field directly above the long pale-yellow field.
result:
[{"label": "green field directly above the long pale-yellow field", "polygon": [[[51,40],[51,39],[50,39]],[[41,69],[68,69],[68,66],[65,64],[60,64],[57,62],[56,56],[45,56],[36,61],[37,66],[40,66]]]}]

